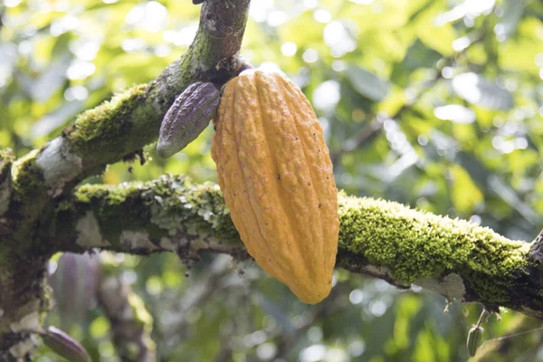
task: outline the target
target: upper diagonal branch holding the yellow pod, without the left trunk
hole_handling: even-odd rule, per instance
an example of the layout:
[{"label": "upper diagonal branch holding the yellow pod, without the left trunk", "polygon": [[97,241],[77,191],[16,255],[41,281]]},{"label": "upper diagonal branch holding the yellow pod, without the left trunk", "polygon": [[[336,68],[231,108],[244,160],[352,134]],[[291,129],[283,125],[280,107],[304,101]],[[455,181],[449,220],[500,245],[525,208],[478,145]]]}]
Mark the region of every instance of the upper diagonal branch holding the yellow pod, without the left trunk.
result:
[{"label": "upper diagonal branch holding the yellow pod, without the left trunk", "polygon": [[22,202],[12,214],[37,220],[51,197],[62,195],[110,163],[137,153],[158,136],[176,96],[195,81],[224,83],[245,65],[239,56],[249,0],[209,0],[195,41],[156,80],[130,88],[93,110],[40,150],[15,164],[14,193]]}]

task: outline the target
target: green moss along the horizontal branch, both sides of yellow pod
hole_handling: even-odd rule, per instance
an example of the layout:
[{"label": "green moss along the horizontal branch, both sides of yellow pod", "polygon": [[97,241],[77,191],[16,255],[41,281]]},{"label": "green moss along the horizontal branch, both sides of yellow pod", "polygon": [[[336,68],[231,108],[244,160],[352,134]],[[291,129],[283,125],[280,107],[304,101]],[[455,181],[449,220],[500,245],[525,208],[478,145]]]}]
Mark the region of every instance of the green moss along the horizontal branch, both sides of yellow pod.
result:
[{"label": "green moss along the horizontal branch, both sides of yellow pod", "polygon": [[[93,205],[110,243],[123,230],[146,231],[158,241],[180,228],[239,243],[223,195],[213,184],[194,186],[180,176],[163,176],[145,184],[83,186],[76,195]],[[529,243],[510,241],[489,228],[383,200],[340,193],[338,201],[338,246],[348,255],[343,265],[384,266],[405,285],[455,272],[472,294],[495,303],[513,297],[511,283],[529,267]]]}]

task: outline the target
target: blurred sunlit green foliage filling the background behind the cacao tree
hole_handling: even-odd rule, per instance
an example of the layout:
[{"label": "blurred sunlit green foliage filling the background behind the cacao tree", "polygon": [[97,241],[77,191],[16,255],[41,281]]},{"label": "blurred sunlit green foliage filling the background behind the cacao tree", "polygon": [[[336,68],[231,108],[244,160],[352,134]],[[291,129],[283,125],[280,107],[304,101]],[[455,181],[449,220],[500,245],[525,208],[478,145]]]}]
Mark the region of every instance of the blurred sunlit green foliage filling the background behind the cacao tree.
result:
[{"label": "blurred sunlit green foliage filling the background behind the cacao tree", "polygon": [[[23,156],[74,116],[150,81],[197,29],[189,0],[4,0],[0,148]],[[543,3],[538,0],[254,0],[243,56],[279,67],[319,115],[339,188],[470,219],[510,238],[543,227]],[[214,180],[211,129],[168,160],[112,165],[89,182],[163,173]],[[146,301],[163,361],[464,361],[480,306],[336,271],[317,306],[251,263],[116,256]],[[52,270],[55,266],[52,261]],[[483,339],[538,328],[492,316]],[[52,312],[48,322],[60,325]],[[71,328],[115,361],[100,309]],[[543,361],[543,334],[486,342],[484,361]],[[46,348],[38,361],[56,361]]]}]

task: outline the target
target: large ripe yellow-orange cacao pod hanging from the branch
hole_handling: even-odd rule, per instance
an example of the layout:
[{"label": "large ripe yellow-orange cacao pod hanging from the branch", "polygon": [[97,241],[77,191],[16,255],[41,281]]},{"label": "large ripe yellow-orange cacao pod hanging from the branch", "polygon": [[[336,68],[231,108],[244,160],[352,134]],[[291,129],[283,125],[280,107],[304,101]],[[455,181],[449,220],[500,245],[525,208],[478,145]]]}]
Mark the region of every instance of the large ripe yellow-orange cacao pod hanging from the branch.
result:
[{"label": "large ripe yellow-orange cacao pod hanging from the branch", "polygon": [[338,194],[310,101],[280,73],[243,71],[224,86],[211,155],[233,224],[264,271],[314,304],[329,295]]}]

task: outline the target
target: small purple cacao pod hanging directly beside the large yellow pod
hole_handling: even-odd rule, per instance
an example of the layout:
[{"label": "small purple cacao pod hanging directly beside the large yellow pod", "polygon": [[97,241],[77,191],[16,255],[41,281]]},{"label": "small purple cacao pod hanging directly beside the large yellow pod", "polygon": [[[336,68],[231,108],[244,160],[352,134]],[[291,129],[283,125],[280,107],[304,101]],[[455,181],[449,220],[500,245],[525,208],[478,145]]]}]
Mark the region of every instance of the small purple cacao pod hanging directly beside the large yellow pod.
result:
[{"label": "small purple cacao pod hanging directly beside the large yellow pod", "polygon": [[213,83],[198,81],[188,86],[162,119],[158,156],[171,157],[194,141],[213,119],[220,99]]}]

